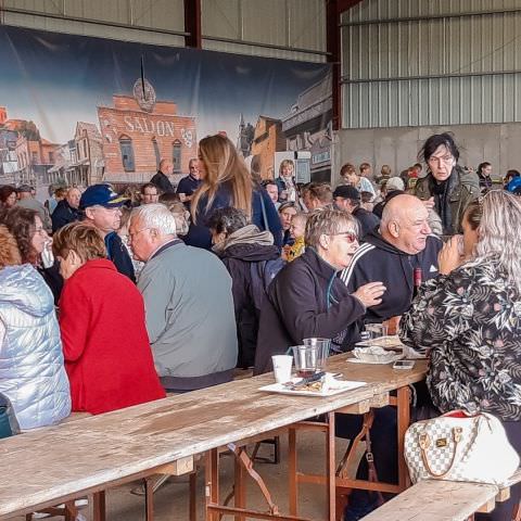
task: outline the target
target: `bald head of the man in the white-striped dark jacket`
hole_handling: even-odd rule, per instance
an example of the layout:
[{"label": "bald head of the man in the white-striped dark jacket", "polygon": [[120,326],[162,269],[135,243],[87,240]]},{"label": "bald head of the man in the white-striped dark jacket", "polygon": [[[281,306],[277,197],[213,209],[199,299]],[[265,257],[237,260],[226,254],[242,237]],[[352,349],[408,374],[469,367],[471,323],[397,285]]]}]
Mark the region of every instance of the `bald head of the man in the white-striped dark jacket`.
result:
[{"label": "bald head of the man in the white-striped dark jacket", "polygon": [[414,195],[396,195],[383,208],[382,238],[402,252],[416,255],[424,250],[431,233],[429,211]]}]

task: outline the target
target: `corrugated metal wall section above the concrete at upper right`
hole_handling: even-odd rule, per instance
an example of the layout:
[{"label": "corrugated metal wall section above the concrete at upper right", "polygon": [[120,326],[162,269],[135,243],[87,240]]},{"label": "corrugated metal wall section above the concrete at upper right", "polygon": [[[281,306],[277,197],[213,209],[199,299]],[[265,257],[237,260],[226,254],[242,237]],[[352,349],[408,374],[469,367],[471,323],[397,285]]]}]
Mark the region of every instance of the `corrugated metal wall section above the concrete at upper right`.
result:
[{"label": "corrugated metal wall section above the concrete at upper right", "polygon": [[521,122],[521,0],[364,0],[342,22],[344,127]]}]

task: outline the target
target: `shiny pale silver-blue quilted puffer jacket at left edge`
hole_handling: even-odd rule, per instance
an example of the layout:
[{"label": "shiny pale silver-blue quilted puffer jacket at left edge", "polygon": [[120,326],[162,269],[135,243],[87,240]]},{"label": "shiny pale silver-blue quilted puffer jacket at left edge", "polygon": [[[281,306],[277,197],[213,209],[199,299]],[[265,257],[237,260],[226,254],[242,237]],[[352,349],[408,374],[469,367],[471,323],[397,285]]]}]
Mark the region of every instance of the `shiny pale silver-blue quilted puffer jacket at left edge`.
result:
[{"label": "shiny pale silver-blue quilted puffer jacket at left edge", "polygon": [[29,265],[0,270],[0,393],[22,430],[58,423],[71,412],[52,293]]}]

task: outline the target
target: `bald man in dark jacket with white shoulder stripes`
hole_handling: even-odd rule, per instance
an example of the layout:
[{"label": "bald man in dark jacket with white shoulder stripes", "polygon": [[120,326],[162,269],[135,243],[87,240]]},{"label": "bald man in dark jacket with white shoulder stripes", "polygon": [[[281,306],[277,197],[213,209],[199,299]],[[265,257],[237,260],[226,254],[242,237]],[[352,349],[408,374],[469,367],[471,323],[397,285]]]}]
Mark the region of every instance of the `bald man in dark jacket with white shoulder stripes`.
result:
[{"label": "bald man in dark jacket with white shoulder stripes", "polygon": [[437,254],[442,241],[431,236],[429,212],[414,195],[396,195],[385,205],[380,229],[365,238],[341,279],[354,291],[360,284],[379,280],[387,288],[381,304],[367,310],[367,322],[382,322],[410,307],[414,271],[422,279],[437,275]]}]

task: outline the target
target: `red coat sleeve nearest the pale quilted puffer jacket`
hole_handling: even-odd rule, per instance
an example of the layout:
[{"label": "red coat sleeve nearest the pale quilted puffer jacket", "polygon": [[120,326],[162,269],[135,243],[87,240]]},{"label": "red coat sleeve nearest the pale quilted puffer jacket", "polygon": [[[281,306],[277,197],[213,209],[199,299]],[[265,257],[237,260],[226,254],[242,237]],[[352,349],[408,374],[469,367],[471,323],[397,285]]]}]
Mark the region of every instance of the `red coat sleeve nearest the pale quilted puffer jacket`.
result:
[{"label": "red coat sleeve nearest the pale quilted puffer jacket", "polygon": [[84,353],[90,329],[91,302],[73,280],[65,284],[60,300],[60,331],[65,361],[75,361]]}]

